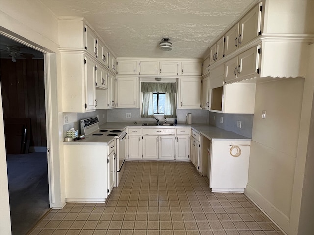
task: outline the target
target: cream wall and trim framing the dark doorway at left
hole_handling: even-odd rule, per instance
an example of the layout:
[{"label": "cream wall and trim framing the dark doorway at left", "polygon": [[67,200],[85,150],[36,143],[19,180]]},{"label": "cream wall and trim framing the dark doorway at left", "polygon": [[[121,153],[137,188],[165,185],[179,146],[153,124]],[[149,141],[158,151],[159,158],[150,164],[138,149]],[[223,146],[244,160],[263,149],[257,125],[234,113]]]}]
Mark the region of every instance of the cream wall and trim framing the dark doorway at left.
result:
[{"label": "cream wall and trim framing the dark doorway at left", "polygon": [[[50,152],[52,159],[49,164],[54,165],[53,171],[50,172],[52,179],[50,188],[54,194],[51,195],[51,207],[62,207],[65,203],[63,176],[63,151],[60,142],[63,140],[62,130],[62,110],[61,104],[61,76],[56,68],[60,68],[60,60],[58,55],[58,21],[55,16],[39,1],[32,0],[1,0],[0,2],[0,30],[1,33],[19,42],[33,47],[48,54],[45,61],[49,62],[49,66],[45,68],[46,79],[45,86],[48,93],[49,101],[47,110],[51,110],[48,114],[48,123],[50,132],[48,140],[50,141]],[[36,13],[36,14],[35,14]],[[59,93],[58,93],[59,91]],[[0,102],[0,112],[2,113],[2,102]],[[3,128],[3,119],[0,124],[0,197],[1,197],[1,218],[0,218],[0,234],[10,234],[11,227],[7,218],[10,218],[10,212],[6,205],[8,204],[8,188],[7,179],[2,177],[6,169],[5,142],[1,134]],[[61,148],[60,148],[61,146]],[[4,154],[3,154],[4,153]],[[6,218],[6,219],[2,219]],[[5,232],[3,232],[5,231]],[[2,233],[3,232],[3,233]]]}]

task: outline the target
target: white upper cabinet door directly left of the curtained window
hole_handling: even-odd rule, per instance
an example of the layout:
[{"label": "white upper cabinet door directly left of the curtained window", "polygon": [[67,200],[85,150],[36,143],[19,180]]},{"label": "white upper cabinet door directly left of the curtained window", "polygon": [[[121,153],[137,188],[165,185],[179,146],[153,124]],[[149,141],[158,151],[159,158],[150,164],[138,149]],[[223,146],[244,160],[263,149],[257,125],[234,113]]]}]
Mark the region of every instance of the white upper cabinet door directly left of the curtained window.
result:
[{"label": "white upper cabinet door directly left of the curtained window", "polygon": [[138,78],[121,78],[117,79],[117,107],[119,108],[136,108]]}]

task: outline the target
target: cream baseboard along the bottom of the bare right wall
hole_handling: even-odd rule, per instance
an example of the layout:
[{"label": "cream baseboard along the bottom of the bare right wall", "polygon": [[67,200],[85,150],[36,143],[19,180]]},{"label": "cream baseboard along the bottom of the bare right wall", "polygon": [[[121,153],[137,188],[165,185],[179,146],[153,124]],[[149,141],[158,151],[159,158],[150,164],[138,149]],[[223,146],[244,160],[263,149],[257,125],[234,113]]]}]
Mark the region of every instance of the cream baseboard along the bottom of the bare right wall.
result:
[{"label": "cream baseboard along the bottom of the bare right wall", "polygon": [[244,194],[285,234],[288,234],[290,220],[249,184]]}]

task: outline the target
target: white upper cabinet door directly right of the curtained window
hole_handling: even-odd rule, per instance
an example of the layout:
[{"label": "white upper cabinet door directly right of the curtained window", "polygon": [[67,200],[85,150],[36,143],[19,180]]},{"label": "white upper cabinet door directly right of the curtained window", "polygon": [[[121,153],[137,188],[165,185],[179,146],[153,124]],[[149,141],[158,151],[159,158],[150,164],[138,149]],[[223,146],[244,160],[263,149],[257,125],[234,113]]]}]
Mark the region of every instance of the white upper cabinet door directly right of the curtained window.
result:
[{"label": "white upper cabinet door directly right of the curtained window", "polygon": [[201,108],[201,79],[180,80],[180,103],[181,109]]}]

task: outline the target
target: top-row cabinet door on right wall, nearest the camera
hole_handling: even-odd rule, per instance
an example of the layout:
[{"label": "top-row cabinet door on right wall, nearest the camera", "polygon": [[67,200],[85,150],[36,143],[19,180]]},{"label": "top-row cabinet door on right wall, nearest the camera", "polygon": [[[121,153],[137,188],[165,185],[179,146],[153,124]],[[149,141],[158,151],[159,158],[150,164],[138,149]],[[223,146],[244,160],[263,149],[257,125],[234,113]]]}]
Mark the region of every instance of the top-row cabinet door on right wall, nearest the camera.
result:
[{"label": "top-row cabinet door on right wall, nearest the camera", "polygon": [[260,6],[262,2],[257,4],[240,20],[239,46],[243,46],[252,39],[261,34],[261,15]]}]

